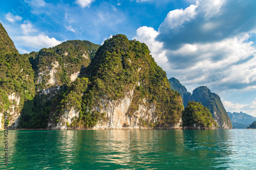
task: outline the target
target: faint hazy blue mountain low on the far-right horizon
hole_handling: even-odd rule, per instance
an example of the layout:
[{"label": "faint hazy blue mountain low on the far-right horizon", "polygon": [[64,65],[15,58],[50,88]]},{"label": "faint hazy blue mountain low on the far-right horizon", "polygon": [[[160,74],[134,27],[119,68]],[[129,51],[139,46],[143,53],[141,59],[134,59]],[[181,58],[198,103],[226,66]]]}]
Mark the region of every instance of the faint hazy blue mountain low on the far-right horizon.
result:
[{"label": "faint hazy blue mountain low on the far-right horizon", "polygon": [[256,117],[253,117],[249,114],[243,112],[227,112],[233,128],[237,129],[246,129],[253,121],[256,120]]}]

